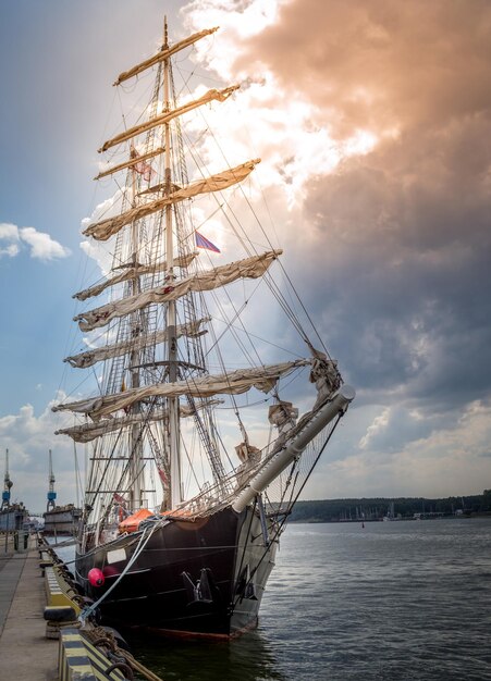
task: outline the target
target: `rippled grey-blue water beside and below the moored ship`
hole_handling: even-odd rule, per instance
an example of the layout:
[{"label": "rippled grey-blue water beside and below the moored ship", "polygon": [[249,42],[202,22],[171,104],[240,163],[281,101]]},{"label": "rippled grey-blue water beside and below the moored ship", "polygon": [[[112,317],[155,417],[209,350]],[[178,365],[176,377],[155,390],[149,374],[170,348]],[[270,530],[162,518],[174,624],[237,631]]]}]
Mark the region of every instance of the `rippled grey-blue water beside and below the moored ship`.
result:
[{"label": "rippled grey-blue water beside and below the moored ship", "polygon": [[291,524],[259,628],[132,641],[165,681],[491,680],[491,519]]}]

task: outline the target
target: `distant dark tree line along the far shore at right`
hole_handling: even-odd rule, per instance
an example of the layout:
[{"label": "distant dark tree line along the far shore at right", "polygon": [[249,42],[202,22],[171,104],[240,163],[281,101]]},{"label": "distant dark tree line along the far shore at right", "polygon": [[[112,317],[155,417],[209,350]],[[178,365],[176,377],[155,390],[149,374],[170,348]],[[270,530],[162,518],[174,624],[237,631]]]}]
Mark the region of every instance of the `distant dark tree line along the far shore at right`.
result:
[{"label": "distant dark tree line along the far shore at right", "polygon": [[383,520],[384,517],[491,515],[491,490],[475,496],[451,496],[444,499],[422,497],[323,499],[297,502],[289,522],[349,522]]}]

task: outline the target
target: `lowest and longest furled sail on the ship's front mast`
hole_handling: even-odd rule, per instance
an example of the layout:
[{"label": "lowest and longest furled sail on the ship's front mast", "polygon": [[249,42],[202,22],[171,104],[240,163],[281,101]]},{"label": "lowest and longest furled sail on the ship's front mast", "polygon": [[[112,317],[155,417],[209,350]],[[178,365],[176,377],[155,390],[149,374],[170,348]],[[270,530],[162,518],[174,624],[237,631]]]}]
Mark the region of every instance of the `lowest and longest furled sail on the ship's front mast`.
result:
[{"label": "lowest and longest furled sail on the ship's front mast", "polygon": [[195,377],[189,381],[176,381],[175,383],[157,383],[143,387],[130,388],[112,395],[82,399],[65,405],[56,405],[53,411],[74,411],[86,413],[94,421],[107,417],[119,409],[126,409],[135,401],[147,397],[191,397],[206,398],[214,395],[240,395],[251,387],[269,393],[280,376],[292,372],[299,367],[310,364],[308,359],[297,359],[292,362],[269,364],[254,369],[237,369],[230,373]]}]

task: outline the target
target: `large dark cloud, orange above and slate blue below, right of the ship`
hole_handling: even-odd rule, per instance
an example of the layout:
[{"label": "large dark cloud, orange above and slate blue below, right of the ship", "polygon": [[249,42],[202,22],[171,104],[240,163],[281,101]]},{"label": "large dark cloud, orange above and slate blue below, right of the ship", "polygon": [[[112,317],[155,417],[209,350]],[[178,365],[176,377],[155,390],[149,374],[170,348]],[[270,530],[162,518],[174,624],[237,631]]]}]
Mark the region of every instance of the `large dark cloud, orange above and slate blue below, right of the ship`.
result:
[{"label": "large dark cloud, orange above and slate blue below, right of the ship", "polygon": [[254,40],[337,139],[379,138],[310,185],[297,275],[372,397],[491,389],[490,29],[488,2],[295,1]]}]

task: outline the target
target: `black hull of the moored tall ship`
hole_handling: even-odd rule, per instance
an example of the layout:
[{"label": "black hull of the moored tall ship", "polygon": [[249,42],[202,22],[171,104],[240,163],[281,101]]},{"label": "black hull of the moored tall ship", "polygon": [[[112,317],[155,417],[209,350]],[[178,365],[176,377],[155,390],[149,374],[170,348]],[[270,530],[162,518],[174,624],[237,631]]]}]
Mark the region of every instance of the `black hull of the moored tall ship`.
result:
[{"label": "black hull of the moored tall ship", "polygon": [[[268,523],[273,537],[274,527]],[[254,628],[278,541],[265,537],[259,513],[225,508],[195,521],[171,520],[154,531],[128,571],[98,606],[102,623],[163,635],[234,636]],[[98,600],[114,585],[142,531],[100,545],[76,559],[76,580]],[[101,586],[88,572],[98,568]]]}]

